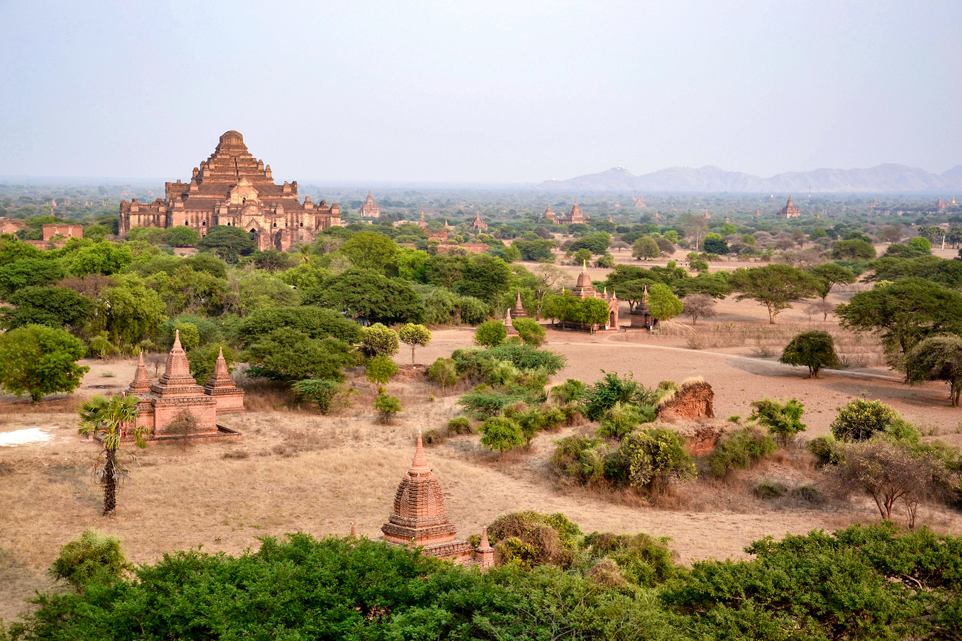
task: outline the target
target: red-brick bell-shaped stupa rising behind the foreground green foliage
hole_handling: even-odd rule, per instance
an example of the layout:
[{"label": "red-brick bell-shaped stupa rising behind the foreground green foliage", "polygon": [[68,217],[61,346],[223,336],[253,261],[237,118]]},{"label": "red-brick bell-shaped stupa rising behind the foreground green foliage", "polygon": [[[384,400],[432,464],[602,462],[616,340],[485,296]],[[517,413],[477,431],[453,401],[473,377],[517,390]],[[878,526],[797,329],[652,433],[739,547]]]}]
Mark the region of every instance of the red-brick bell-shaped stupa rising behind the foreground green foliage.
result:
[{"label": "red-brick bell-shaped stupa rising behind the foreground green foliage", "polygon": [[423,546],[422,554],[459,563],[471,562],[474,548],[457,538],[457,529],[444,514],[444,497],[434,472],[427,466],[418,431],[418,447],[408,473],[394,494],[394,511],[381,526],[384,540],[395,545]]}]

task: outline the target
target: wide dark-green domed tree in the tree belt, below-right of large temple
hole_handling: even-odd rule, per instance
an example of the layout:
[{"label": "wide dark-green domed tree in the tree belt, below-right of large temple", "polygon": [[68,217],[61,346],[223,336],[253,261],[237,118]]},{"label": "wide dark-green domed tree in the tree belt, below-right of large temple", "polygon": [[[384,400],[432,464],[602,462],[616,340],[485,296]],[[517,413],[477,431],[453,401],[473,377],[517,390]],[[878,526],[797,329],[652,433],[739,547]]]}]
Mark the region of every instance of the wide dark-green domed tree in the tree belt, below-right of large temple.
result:
[{"label": "wide dark-green domed tree in the tree belt, below-right of large temple", "polygon": [[372,323],[418,323],[424,318],[424,303],[411,284],[369,269],[331,276],[304,295],[304,304],[338,309]]}]

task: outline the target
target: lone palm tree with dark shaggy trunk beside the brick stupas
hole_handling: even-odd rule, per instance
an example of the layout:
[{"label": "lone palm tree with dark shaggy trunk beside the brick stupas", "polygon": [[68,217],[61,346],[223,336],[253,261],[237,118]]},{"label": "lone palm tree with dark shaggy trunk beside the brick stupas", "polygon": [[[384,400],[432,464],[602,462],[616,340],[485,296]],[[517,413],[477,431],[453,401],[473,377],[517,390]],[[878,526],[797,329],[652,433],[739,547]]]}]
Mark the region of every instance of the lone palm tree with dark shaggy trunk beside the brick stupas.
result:
[{"label": "lone palm tree with dark shaggy trunk beside the brick stupas", "polygon": [[[104,484],[104,516],[114,512],[117,506],[117,481],[127,476],[127,470],[117,460],[117,447],[124,437],[124,426],[134,422],[137,418],[137,404],[140,399],[133,394],[127,396],[112,396],[107,398],[102,394],[92,396],[89,401],[81,404],[77,413],[80,414],[80,433],[85,436],[103,434],[101,442],[104,446],[106,461],[104,466],[96,471],[97,479]],[[145,426],[127,430],[127,435],[133,436],[137,446],[146,447],[143,439]]]}]

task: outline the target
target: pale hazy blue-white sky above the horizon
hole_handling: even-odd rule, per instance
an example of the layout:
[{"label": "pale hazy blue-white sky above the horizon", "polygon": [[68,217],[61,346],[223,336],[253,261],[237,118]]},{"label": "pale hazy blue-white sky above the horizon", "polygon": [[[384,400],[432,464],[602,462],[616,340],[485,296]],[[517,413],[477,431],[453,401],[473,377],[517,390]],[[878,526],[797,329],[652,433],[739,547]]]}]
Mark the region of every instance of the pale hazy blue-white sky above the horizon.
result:
[{"label": "pale hazy blue-white sky above the horizon", "polygon": [[962,163],[962,2],[0,0],[0,175]]}]

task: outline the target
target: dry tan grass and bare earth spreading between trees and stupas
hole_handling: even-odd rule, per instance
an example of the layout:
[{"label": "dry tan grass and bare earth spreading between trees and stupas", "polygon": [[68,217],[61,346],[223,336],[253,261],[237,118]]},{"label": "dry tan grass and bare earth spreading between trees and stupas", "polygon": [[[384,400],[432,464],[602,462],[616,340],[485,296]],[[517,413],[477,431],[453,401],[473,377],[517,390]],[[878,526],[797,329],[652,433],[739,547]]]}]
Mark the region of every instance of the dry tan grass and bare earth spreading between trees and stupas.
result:
[{"label": "dry tan grass and bare earth spreading between trees and stupas", "polygon": [[[833,294],[832,299],[842,302],[848,296]],[[627,314],[626,305],[622,311]],[[633,372],[646,385],[699,375],[712,384],[716,415],[722,419],[747,417],[748,404],[765,396],[798,398],[806,406],[806,437],[827,432],[836,407],[848,400],[881,399],[921,426],[926,438],[962,446],[962,409],[949,407],[945,385],[904,385],[897,373],[881,365],[871,337],[845,332],[831,319],[809,322],[798,309],[789,309],[779,316],[778,325],[770,326],[764,308],[751,301],[724,301],[718,317],[699,321],[696,336],[549,330],[545,347],[569,358],[554,382],[593,382],[601,369]],[[776,361],[793,333],[823,327],[836,335],[851,367],[808,380],[800,368]],[[418,349],[418,360],[448,356],[470,344],[471,336],[468,329],[439,330],[430,346]],[[409,362],[410,353],[402,350],[397,359]],[[221,421],[242,432],[240,442],[190,444],[186,452],[171,443],[142,451],[125,448],[130,480],[119,491],[116,515],[105,518],[100,516],[101,490],[90,475],[97,448],[77,435],[73,409],[78,398],[121,392],[133,377],[134,362],[87,364],[91,371],[73,398],[38,407],[3,399],[0,441],[19,430],[47,437],[0,447],[0,617],[6,619],[24,609],[22,600],[35,589],[50,587],[46,568],[60,546],[87,527],[119,536],[135,562],[198,546],[237,554],[256,548],[259,536],[295,530],[343,535],[352,522],[359,533],[377,536],[391,511],[397,482],[410,464],[415,434],[440,428],[457,415],[455,403],[462,391],[448,389],[442,396],[418,375],[398,376],[389,387],[405,411],[393,425],[381,426],[374,423],[373,395],[360,372],[348,381],[358,390],[352,407],[329,416],[295,406],[273,385],[246,382],[248,412]],[[654,504],[637,494],[572,488],[548,468],[553,441],[571,431],[592,429],[588,425],[543,433],[530,450],[503,460],[482,448],[477,435],[431,447],[428,460],[442,484],[451,521],[469,535],[503,512],[562,511],[586,531],[670,536],[680,560],[688,561],[743,555],[748,542],[768,534],[830,530],[878,518],[866,501],[828,501],[813,507],[752,497],[749,488],[761,479],[793,486],[818,481],[819,473],[803,449],[780,452],[725,482],[685,483]],[[920,520],[934,529],[962,528],[957,513],[941,508],[920,512]]]}]

